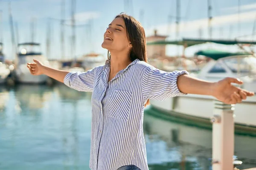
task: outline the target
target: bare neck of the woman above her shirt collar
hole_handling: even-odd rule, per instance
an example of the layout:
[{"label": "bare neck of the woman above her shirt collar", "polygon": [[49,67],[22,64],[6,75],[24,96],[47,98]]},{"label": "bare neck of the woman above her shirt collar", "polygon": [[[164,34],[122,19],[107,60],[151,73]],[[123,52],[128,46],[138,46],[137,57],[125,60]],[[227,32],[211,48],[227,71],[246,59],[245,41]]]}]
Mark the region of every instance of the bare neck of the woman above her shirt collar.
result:
[{"label": "bare neck of the woman above her shirt collar", "polygon": [[131,63],[127,53],[111,53],[110,70],[111,72],[119,72]]}]

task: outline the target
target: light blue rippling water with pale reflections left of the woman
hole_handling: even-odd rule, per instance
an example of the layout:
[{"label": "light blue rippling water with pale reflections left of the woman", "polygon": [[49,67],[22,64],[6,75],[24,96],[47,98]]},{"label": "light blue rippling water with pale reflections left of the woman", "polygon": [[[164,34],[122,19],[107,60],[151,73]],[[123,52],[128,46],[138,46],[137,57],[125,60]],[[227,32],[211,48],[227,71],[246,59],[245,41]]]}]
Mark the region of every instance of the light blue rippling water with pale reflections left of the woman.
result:
[{"label": "light blue rippling water with pale reflections left of the woman", "polygon": [[89,170],[90,94],[65,85],[18,85],[9,93],[12,105],[0,119],[0,169]]}]

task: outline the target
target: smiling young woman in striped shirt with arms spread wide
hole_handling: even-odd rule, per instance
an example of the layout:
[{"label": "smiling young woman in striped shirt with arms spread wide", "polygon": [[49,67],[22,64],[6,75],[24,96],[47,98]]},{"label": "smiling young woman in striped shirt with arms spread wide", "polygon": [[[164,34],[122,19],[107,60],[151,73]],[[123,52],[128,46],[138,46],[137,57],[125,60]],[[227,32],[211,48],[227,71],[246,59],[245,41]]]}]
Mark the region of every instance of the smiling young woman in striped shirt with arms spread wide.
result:
[{"label": "smiling young woman in striped shirt with arms spread wide", "polygon": [[144,107],[149,99],[164,100],[185,94],[212,95],[227,104],[253,96],[237,88],[239,79],[206,82],[187,71],[161,71],[147,63],[145,32],[127,14],[119,14],[104,34],[105,65],[87,72],[68,72],[28,63],[32,75],[46,74],[70,88],[92,93],[92,170],[148,170],[143,135]]}]

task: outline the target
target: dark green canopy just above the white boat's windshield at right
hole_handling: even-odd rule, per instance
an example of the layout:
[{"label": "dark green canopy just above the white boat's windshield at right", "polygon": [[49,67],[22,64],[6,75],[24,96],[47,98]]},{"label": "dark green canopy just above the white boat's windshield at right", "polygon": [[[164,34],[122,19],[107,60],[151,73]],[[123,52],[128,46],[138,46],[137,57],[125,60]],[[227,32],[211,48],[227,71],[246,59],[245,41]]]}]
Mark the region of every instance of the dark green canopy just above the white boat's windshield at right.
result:
[{"label": "dark green canopy just above the white boat's windshield at right", "polygon": [[231,53],[231,52],[218,51],[218,50],[201,50],[196,52],[195,55],[203,55],[203,56],[210,57],[212,59],[217,60],[217,59],[229,57],[229,56],[251,55],[251,54],[247,52]]}]

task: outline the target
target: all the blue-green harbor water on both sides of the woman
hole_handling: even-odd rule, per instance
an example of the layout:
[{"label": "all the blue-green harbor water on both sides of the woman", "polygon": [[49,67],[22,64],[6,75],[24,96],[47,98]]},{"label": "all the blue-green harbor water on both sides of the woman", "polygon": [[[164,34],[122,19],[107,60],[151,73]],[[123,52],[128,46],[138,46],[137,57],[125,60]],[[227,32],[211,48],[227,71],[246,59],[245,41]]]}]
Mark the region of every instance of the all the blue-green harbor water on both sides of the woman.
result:
[{"label": "all the blue-green harbor water on both sides of the woman", "polygon": [[[90,98],[64,84],[0,86],[0,170],[90,170]],[[160,115],[144,114],[149,169],[211,170],[211,129]],[[235,155],[256,167],[256,136],[235,135]]]}]

